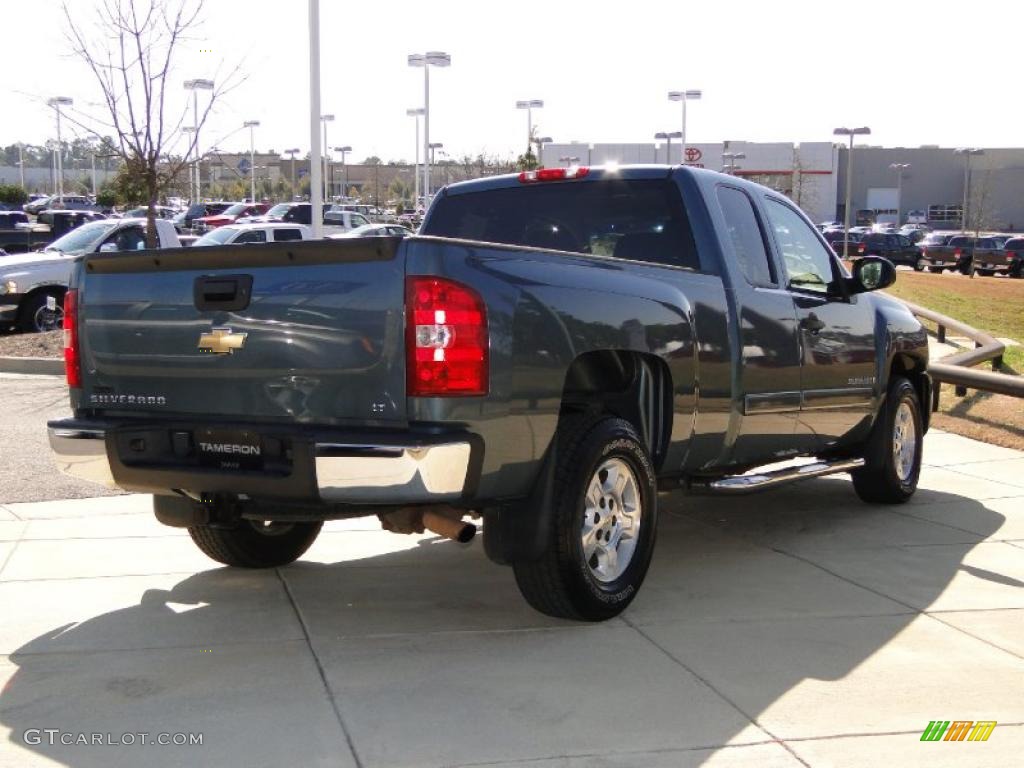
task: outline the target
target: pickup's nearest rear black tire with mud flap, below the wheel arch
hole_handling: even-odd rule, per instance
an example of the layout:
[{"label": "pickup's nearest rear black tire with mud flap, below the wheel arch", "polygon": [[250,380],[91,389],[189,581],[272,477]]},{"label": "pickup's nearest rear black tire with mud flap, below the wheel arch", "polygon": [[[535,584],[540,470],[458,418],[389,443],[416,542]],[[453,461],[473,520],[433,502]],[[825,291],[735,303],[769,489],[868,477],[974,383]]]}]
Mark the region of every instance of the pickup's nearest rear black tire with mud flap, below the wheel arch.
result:
[{"label": "pickup's nearest rear black tire with mud flap, below the wheel arch", "polygon": [[[618,553],[625,552],[622,545],[629,541],[623,531],[630,515],[623,515],[622,512],[618,516],[614,514],[611,492],[600,496],[598,502],[601,510],[611,511],[610,515],[605,514],[599,521],[598,505],[594,507],[593,518],[586,510],[588,487],[593,481],[603,484],[610,477],[610,470],[603,469],[608,466],[615,471],[625,467],[632,473],[630,476],[634,485],[629,495],[634,506],[639,504],[640,514],[637,516],[638,523],[631,521],[631,525],[638,524],[638,534],[630,538],[633,549],[622,566],[622,572],[606,572],[608,579],[601,579],[596,572],[600,568],[597,549],[589,561],[584,554],[584,526],[589,526],[594,534],[592,541],[600,541],[600,531],[605,528],[608,528],[606,542],[614,534],[614,547],[596,546],[602,549],[605,557],[609,557],[609,550],[612,550],[616,563]],[[623,471],[623,476],[629,473]],[[647,450],[633,425],[623,419],[574,419],[559,427],[553,482],[551,527],[546,531],[547,549],[539,560],[513,563],[519,591],[537,610],[559,618],[601,622],[618,615],[636,597],[654,551],[657,488]],[[622,505],[627,493],[622,492],[617,496]],[[627,502],[626,507],[629,506]]]}]

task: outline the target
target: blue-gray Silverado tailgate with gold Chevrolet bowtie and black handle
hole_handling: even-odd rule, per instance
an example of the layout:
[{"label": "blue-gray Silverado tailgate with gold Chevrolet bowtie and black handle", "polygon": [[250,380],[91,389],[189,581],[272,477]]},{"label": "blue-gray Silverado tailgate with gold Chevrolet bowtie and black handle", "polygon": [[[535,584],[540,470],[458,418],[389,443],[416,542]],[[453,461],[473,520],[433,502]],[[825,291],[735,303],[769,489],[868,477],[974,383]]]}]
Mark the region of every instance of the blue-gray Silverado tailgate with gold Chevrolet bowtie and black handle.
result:
[{"label": "blue-gray Silverado tailgate with gold Chevrolet bowtie and black handle", "polygon": [[398,239],[101,254],[84,263],[79,291],[80,408],[406,419]]}]

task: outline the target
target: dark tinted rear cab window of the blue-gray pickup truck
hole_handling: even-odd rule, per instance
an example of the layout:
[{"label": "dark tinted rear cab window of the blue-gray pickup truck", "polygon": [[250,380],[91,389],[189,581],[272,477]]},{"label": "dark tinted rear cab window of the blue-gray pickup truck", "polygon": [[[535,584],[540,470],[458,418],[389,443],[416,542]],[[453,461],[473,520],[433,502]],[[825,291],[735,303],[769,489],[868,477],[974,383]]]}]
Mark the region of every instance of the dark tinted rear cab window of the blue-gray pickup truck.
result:
[{"label": "dark tinted rear cab window of the blue-gray pickup truck", "polygon": [[446,195],[423,234],[700,269],[670,179],[554,182]]}]

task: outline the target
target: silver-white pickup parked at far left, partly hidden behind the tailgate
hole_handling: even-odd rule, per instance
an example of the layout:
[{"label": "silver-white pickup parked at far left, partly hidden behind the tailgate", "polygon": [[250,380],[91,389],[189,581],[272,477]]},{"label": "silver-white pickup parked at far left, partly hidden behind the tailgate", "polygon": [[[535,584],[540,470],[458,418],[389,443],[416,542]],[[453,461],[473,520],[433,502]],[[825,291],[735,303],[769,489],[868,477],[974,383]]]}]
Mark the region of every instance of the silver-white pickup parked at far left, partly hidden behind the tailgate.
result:
[{"label": "silver-white pickup parked at far left, partly hidden behind the tailgate", "polygon": [[[91,221],[42,251],[4,258],[0,261],[0,325],[28,332],[59,329],[65,292],[82,257],[145,248],[145,224],[144,219]],[[157,221],[157,236],[161,248],[178,248],[169,221]]]}]

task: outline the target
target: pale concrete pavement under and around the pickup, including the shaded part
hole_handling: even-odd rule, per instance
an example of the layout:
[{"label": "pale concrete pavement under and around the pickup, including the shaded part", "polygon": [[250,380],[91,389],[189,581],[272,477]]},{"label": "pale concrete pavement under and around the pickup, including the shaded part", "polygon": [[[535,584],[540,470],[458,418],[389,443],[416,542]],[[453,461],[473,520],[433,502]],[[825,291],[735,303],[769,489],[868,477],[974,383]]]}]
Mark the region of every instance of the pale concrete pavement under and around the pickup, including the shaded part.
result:
[{"label": "pale concrete pavement under and around the pickup, including the shaded part", "polygon": [[[4,498],[86,493],[40,381],[0,382]],[[925,461],[898,508],[842,477],[664,497],[643,591],[596,626],[534,612],[479,541],[336,522],[238,571],[145,497],[3,503],[0,766],[1016,768],[1024,454],[933,432]],[[998,725],[922,742],[937,719]],[[203,743],[26,743],[47,728]]]}]

